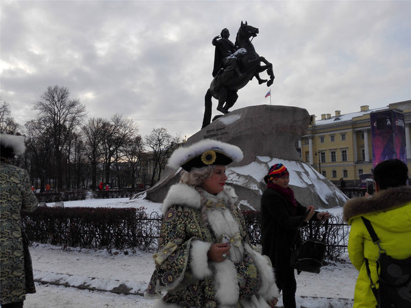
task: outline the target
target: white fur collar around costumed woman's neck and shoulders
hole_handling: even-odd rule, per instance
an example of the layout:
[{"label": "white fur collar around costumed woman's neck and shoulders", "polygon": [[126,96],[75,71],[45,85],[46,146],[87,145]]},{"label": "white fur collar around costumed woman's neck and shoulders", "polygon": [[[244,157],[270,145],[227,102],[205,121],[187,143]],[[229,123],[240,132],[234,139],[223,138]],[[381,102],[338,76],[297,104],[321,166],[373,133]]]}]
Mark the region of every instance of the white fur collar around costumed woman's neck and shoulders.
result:
[{"label": "white fur collar around costumed woman's neck and shoulders", "polygon": [[[221,198],[223,198],[225,203],[227,203],[227,201],[236,203],[237,201],[237,195],[234,188],[228,185],[225,185],[224,190],[219,192],[219,194],[209,194],[203,190],[203,195],[212,201],[219,201]],[[177,204],[191,207],[193,209],[201,209],[201,196],[194,187],[183,183],[178,183],[170,187],[166,198],[164,198],[162,204],[162,214],[166,214],[166,211],[172,205]]]}]

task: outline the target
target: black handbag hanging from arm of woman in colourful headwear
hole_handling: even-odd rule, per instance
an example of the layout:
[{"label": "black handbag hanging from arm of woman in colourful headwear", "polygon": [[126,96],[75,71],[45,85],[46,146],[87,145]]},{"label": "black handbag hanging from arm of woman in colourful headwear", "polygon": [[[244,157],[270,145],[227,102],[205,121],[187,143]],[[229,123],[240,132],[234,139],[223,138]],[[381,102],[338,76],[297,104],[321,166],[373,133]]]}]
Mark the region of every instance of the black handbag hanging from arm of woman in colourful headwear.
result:
[{"label": "black handbag hanging from arm of woman in colourful headwear", "polygon": [[[306,216],[303,218],[303,222],[306,219]],[[303,223],[301,222],[301,224]],[[313,272],[318,274],[320,272],[321,266],[323,266],[323,261],[325,257],[325,251],[327,249],[327,245],[325,244],[325,239],[327,237],[328,231],[328,220],[325,221],[325,231],[321,240],[315,238],[312,234],[312,226],[309,226],[310,229],[310,238],[305,240],[303,244],[298,247],[294,248],[291,252],[290,257],[290,266],[295,268],[298,272]],[[300,227],[301,228],[301,225]],[[294,242],[292,247],[295,247],[295,242],[297,240],[297,234],[295,235]]]}]

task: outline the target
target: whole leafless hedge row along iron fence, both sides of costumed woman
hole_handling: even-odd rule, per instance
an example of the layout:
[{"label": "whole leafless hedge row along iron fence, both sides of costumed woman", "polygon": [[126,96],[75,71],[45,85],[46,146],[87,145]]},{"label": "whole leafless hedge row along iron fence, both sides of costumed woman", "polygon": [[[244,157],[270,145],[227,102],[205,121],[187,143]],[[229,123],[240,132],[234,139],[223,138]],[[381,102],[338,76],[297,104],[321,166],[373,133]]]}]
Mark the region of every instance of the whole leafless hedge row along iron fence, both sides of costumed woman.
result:
[{"label": "whole leafless hedge row along iron fence, both sides of costumed woman", "polygon": [[[261,244],[260,211],[242,211],[253,246]],[[29,240],[43,244],[82,248],[157,249],[162,216],[150,215],[144,208],[116,209],[110,207],[38,207],[22,214],[23,228]],[[324,224],[310,222],[301,228],[301,238],[319,237]],[[325,242],[326,257],[336,260],[347,248],[349,226],[342,216],[331,216]]]}]

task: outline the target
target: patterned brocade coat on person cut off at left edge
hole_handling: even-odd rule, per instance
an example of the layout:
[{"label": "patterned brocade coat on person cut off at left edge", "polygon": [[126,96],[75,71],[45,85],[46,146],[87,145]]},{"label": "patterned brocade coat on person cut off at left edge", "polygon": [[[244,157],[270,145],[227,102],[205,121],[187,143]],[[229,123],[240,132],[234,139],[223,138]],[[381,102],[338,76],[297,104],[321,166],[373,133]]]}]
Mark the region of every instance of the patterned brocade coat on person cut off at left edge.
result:
[{"label": "patterned brocade coat on person cut off at left edge", "polygon": [[21,210],[34,211],[38,205],[30,189],[26,170],[0,163],[0,303],[25,300],[34,293],[32,261],[23,247]]}]

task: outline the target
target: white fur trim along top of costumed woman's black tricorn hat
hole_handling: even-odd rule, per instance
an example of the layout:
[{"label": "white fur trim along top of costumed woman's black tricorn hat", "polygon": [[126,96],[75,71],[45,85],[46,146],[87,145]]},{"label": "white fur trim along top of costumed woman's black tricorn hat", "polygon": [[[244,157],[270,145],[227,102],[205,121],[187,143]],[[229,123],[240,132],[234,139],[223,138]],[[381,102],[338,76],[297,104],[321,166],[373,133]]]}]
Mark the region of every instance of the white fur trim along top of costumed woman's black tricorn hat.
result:
[{"label": "white fur trim along top of costumed woman's black tricorn hat", "polygon": [[169,159],[168,166],[177,169],[188,162],[188,160],[201,155],[208,150],[224,153],[234,162],[240,162],[243,157],[242,151],[238,146],[218,140],[205,139],[195,144],[191,144],[190,146],[181,147],[175,150]]}]

